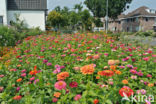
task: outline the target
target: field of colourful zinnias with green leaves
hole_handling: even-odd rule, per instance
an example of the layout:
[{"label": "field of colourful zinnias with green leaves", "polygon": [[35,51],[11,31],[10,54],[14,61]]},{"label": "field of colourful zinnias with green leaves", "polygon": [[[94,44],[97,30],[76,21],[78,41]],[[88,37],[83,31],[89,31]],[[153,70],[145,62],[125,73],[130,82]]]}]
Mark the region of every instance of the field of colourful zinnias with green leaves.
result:
[{"label": "field of colourful zinnias with green leaves", "polygon": [[1,58],[1,104],[154,104],[155,47],[106,34],[40,35],[9,54]]}]

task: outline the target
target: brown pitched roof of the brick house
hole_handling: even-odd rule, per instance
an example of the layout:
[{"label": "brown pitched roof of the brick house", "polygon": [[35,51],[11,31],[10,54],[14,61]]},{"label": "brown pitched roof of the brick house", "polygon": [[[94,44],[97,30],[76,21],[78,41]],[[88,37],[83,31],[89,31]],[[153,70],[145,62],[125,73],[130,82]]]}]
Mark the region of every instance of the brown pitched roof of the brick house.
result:
[{"label": "brown pitched roof of the brick house", "polygon": [[[151,12],[154,11],[154,12]],[[128,13],[127,15],[125,15],[124,18],[129,18],[129,17],[134,17],[134,16],[156,16],[156,11],[149,9],[146,6],[142,6],[130,13]]]}]

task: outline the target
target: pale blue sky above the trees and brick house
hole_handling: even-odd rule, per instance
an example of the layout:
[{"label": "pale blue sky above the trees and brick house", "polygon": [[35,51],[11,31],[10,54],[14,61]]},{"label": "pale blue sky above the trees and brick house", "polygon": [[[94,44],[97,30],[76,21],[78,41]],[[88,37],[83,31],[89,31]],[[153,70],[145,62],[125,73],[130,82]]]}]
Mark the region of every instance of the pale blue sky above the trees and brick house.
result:
[{"label": "pale blue sky above the trees and brick house", "polygon": [[[72,8],[75,4],[84,2],[84,0],[48,0],[48,9],[52,10],[56,6],[67,6]],[[140,6],[147,6],[151,9],[156,9],[156,0],[133,0],[130,8],[125,11],[125,13],[131,12]]]}]

